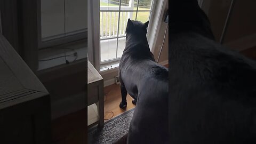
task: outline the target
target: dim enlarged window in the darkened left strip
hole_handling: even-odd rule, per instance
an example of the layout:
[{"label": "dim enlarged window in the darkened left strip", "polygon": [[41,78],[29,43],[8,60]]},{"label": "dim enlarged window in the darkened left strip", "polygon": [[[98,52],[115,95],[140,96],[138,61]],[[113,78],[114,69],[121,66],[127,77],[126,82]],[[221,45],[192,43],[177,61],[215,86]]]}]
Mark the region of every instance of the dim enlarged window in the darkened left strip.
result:
[{"label": "dim enlarged window in the darkened left strip", "polygon": [[85,60],[87,1],[43,0],[40,4],[37,70]]}]

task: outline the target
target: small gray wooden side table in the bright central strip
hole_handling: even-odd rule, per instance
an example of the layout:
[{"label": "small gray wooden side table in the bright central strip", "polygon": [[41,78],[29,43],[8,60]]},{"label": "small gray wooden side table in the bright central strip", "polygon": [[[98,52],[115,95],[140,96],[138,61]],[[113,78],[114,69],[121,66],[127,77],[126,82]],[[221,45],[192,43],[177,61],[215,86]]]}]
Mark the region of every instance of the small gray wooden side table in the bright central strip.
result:
[{"label": "small gray wooden side table in the bright central strip", "polygon": [[104,94],[103,94],[103,78],[98,71],[92,66],[92,63],[88,61],[88,96],[87,106],[96,103],[98,107],[99,124],[98,127],[102,128],[104,125]]}]

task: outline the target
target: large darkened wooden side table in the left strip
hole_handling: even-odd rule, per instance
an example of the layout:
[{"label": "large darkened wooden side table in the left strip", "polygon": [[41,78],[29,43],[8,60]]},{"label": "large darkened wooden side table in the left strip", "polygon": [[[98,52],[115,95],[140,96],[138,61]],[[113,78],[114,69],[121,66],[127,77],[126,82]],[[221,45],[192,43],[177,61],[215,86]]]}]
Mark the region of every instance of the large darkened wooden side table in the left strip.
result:
[{"label": "large darkened wooden side table in the left strip", "polygon": [[0,34],[0,143],[51,143],[50,95]]}]

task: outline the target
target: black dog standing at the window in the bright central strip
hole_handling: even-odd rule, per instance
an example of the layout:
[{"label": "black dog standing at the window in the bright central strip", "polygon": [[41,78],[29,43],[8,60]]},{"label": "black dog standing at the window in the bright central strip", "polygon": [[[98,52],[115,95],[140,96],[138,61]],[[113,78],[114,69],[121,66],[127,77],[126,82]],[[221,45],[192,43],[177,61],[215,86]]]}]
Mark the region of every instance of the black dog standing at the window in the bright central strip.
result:
[{"label": "black dog standing at the window in the bright central strip", "polygon": [[148,22],[127,22],[126,43],[119,63],[122,93],[137,100],[127,143],[167,143],[168,70],[155,62],[147,42]]}]

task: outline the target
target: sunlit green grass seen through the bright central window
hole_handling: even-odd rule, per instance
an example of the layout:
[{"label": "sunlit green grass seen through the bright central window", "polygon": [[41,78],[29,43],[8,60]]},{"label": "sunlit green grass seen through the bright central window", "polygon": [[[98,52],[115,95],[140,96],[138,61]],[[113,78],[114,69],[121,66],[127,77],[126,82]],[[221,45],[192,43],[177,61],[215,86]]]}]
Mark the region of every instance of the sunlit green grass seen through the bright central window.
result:
[{"label": "sunlit green grass seen through the bright central window", "polygon": [[[100,6],[107,6],[108,4],[107,3],[104,3],[104,2],[100,2]],[[115,5],[115,4],[109,4],[109,6],[118,6],[118,5]],[[134,10],[137,10],[137,7],[134,7]],[[142,8],[142,7],[139,7],[139,10],[150,10],[150,9],[147,9],[147,8]],[[110,30],[110,34],[113,34],[113,27],[114,27],[114,19],[115,19],[115,30],[114,30],[114,33],[116,34],[117,33],[117,20],[118,20],[118,12],[115,12],[116,13],[116,15],[115,15],[115,17],[114,17],[114,12],[111,12],[111,23],[110,23],[110,25],[111,25],[111,30]],[[126,12],[126,19],[127,19],[127,14],[128,14],[128,12]],[[150,12],[138,12],[138,14],[137,14],[137,20],[139,20],[139,21],[141,21],[141,22],[146,22],[146,21],[148,21],[148,19],[149,19],[149,14],[150,14]],[[120,26],[121,26],[121,29],[119,28],[119,31],[121,30],[121,32],[122,32],[122,34],[123,34],[123,31],[125,30],[123,30],[123,26],[125,26],[125,28],[126,28],[126,23],[127,23],[127,20],[124,20],[124,13],[123,13],[123,15],[121,14],[120,15],[120,19],[122,20],[122,21],[120,21]],[[133,12],[132,13],[132,18],[131,18],[131,20],[135,20],[135,17],[136,17],[136,12]],[[121,16],[122,16],[122,18],[121,18]],[[101,19],[101,13],[100,13],[100,26],[101,26],[101,22],[103,22],[102,24],[103,24],[103,35],[105,36],[105,31],[106,31],[106,12],[103,12],[103,20]],[[109,20],[110,20],[110,12],[108,12],[108,18],[109,18]],[[108,31],[108,34],[109,34],[109,20],[108,20],[108,24],[107,24],[107,31]],[[100,27],[101,28],[101,27]]]}]

